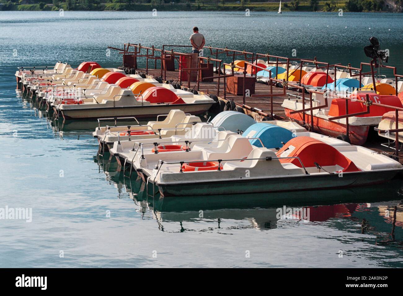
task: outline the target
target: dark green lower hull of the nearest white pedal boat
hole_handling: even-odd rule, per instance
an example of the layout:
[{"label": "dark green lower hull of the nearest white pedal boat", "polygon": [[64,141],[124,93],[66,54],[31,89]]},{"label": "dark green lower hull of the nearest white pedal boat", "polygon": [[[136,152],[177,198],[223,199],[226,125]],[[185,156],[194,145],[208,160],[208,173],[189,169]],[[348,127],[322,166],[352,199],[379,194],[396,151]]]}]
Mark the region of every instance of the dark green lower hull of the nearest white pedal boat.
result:
[{"label": "dark green lower hull of the nearest white pedal boat", "polygon": [[[189,184],[155,184],[162,197],[193,195],[232,195],[240,193],[270,193],[300,191],[311,189],[330,189],[381,184],[394,178],[402,170],[384,170],[374,172],[345,173],[320,176],[299,176],[284,178],[266,178],[259,180],[216,181]],[[150,181],[151,178],[150,178]],[[208,190],[206,190],[208,188]],[[152,193],[152,182],[149,182],[149,193]],[[342,198],[342,197],[341,197]]]}]

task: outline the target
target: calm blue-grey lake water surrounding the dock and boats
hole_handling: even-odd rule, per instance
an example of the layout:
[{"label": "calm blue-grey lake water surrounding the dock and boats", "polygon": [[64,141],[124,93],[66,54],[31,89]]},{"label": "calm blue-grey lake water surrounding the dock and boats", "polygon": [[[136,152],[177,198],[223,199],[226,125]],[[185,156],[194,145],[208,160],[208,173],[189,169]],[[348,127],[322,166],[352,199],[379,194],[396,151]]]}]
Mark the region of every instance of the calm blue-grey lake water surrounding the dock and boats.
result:
[{"label": "calm blue-grey lake water surrounding the dock and boats", "polygon": [[[108,45],[186,44],[194,25],[208,45],[353,66],[376,36],[401,74],[402,24],[388,13],[0,12],[0,211],[32,209],[29,223],[0,219],[0,267],[403,267],[400,180],[150,200],[140,180],[97,157],[95,122],[49,120],[14,77],[17,66],[57,60],[118,66]],[[278,219],[284,206],[304,207],[310,221]]]}]

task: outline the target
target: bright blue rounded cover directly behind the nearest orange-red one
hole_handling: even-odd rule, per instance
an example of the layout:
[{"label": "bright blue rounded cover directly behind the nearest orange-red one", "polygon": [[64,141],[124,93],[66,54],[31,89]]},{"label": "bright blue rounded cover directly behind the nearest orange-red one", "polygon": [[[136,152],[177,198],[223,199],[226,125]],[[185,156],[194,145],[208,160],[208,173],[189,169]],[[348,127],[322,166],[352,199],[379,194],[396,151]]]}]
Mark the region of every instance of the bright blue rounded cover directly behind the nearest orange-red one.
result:
[{"label": "bright blue rounded cover directly behind the nearest orange-red one", "polygon": [[[249,126],[249,128],[243,132],[242,136],[246,138],[259,138],[264,147],[268,149],[281,148],[283,147],[281,142],[287,143],[294,138],[291,130],[263,122]],[[249,140],[249,142],[256,147],[262,147],[258,139]]]}]

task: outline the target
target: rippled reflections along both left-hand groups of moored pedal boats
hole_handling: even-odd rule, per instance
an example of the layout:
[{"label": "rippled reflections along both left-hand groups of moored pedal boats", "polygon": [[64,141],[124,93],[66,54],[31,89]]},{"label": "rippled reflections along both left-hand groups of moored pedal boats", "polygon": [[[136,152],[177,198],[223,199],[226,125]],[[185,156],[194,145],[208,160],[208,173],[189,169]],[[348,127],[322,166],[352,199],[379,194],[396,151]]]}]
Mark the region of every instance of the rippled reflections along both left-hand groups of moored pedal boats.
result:
[{"label": "rippled reflections along both left-hand groups of moored pedal boats", "polygon": [[[37,106],[35,100],[21,95],[19,99],[27,112],[31,110],[35,124],[47,126],[44,133],[48,133],[48,136],[52,133],[57,139],[83,140],[59,149],[74,153],[85,146],[90,153],[96,153],[97,142],[91,138],[91,132],[98,126],[96,120],[57,120],[49,116],[44,108]],[[114,122],[103,124],[112,125]],[[27,133],[23,137],[37,138],[38,135]],[[120,166],[110,155],[106,154],[103,158],[94,156],[93,161],[98,165],[98,173],[104,176],[105,184],[116,188],[118,199],[122,202],[129,201],[129,207],[133,200],[133,208],[142,220],[154,225],[156,232],[215,232],[224,235],[236,232],[243,235],[242,230],[249,229],[271,237],[281,231],[281,235],[291,233],[295,237],[309,237],[310,240],[301,246],[311,250],[311,241],[321,238],[330,239],[336,245],[338,242],[350,244],[353,241],[386,247],[388,250],[393,248],[393,254],[396,255],[402,251],[403,188],[400,180],[378,186],[337,190],[153,199],[147,197],[142,180],[124,177]],[[91,182],[90,178],[83,184],[88,184],[87,182]],[[94,194],[93,199],[97,198],[97,194]],[[123,207],[127,203],[121,205]],[[302,212],[287,215],[284,213],[286,210],[279,211],[284,207],[302,209]],[[304,216],[306,214],[307,217]],[[150,230],[145,224],[136,225],[135,228],[135,231],[143,235],[143,231]],[[208,236],[204,238],[208,239]],[[246,236],[241,238],[243,239]],[[254,236],[254,240],[257,239],[265,241],[267,238]],[[168,241],[165,242],[169,244]],[[282,241],[274,239],[272,243],[281,245]],[[387,260],[393,260],[392,257],[396,255],[388,255],[390,258]]]}]

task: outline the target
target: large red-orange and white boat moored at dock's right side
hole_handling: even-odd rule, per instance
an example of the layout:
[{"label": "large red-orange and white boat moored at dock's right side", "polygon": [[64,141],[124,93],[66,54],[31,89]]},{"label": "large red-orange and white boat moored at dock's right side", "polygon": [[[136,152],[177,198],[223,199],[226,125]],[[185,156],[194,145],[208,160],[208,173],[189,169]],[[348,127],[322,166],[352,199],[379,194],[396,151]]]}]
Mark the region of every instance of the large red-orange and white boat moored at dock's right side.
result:
[{"label": "large red-orange and white boat moored at dock's right side", "polygon": [[[309,95],[305,98],[305,106],[302,104],[301,96],[290,96],[289,99],[283,101],[281,106],[283,106],[287,117],[303,125],[311,123],[311,111],[292,112],[322,106],[322,108],[312,110],[314,131],[318,131],[324,135],[338,137],[345,135],[347,132],[346,118],[338,118],[346,114],[345,99],[343,98],[346,94],[348,97],[355,99],[349,100],[348,102],[350,114],[358,112],[365,113],[367,111],[366,104],[371,104],[372,102],[402,108],[399,97],[395,95],[378,95],[375,91],[361,91],[357,89],[353,93],[346,93],[345,91],[323,91],[322,94],[313,93],[312,106],[310,105]],[[368,101],[371,102],[366,102],[367,95]],[[378,126],[382,115],[392,110],[394,109],[371,106],[370,113],[349,117],[349,140],[351,143],[363,145],[367,140],[370,128]]]}]

